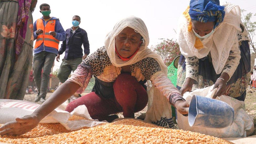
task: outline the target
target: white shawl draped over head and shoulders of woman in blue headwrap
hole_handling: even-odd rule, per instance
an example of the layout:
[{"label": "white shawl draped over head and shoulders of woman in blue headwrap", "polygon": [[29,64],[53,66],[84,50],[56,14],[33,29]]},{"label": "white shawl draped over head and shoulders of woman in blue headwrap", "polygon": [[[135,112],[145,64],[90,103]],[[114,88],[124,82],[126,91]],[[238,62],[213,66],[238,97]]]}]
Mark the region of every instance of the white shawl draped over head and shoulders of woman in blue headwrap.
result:
[{"label": "white shawl draped over head and shoulders of woman in blue headwrap", "polygon": [[196,36],[193,31],[188,32],[189,22],[184,15],[179,18],[177,34],[181,54],[185,57],[203,58],[211,52],[212,64],[217,74],[220,74],[225,66],[234,40],[237,39],[237,31],[241,31],[240,8],[230,3],[223,6],[225,6],[224,20],[216,27],[211,36],[201,41],[204,48],[195,48]]}]

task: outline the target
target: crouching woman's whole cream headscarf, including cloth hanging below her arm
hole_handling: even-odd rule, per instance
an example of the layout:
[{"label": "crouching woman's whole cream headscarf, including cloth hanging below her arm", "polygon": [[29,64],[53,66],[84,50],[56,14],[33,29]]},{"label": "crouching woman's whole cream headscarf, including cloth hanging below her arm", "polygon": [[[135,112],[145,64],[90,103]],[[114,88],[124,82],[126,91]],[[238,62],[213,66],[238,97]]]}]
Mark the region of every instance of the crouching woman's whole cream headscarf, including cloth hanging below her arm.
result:
[{"label": "crouching woman's whole cream headscarf, including cloth hanging below her arm", "polygon": [[[115,52],[115,38],[126,27],[130,27],[136,32],[140,33],[145,42],[141,44],[138,52],[134,57],[132,57],[130,60],[123,61]],[[126,65],[132,65],[144,58],[151,57],[159,63],[163,73],[165,76],[167,76],[167,67],[164,64],[163,59],[158,54],[148,49],[148,43],[149,36],[145,23],[140,18],[134,16],[125,18],[118,22],[105,39],[106,51],[111,63],[114,66],[122,67]],[[148,110],[146,113],[145,121],[159,122],[162,120],[162,118],[170,120],[172,118],[172,110],[168,99],[150,81],[148,81],[147,88]]]}]

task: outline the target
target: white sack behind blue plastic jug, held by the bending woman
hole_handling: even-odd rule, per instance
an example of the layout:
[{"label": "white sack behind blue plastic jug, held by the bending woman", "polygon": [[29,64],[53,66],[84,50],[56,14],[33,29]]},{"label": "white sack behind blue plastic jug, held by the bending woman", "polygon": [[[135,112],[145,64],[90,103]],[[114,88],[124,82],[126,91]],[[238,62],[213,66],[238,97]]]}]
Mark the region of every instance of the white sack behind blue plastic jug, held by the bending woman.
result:
[{"label": "white sack behind blue plastic jug, held by the bending woman", "polygon": [[[213,95],[217,92],[217,89],[212,90],[213,87],[214,85],[204,89],[196,89],[193,92],[186,92],[184,93],[183,98],[187,101],[190,101],[194,94],[200,95],[202,97],[212,98]],[[226,95],[222,95],[216,99],[227,103],[234,109],[234,122],[231,126],[222,129],[196,126],[190,127],[188,123],[188,117],[183,116],[177,112],[177,123],[179,128],[215,137],[246,137],[253,133],[253,118],[246,113],[243,101],[231,98]]]}]

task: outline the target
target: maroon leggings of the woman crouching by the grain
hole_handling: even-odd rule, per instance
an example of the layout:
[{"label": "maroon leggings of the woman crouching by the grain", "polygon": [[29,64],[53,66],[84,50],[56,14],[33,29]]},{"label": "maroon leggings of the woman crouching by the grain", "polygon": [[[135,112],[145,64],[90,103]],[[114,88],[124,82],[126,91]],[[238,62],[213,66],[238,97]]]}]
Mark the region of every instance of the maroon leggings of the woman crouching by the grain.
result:
[{"label": "maroon leggings of the woman crouching by the grain", "polygon": [[79,105],[85,105],[90,116],[100,121],[108,115],[123,112],[125,118],[134,118],[134,113],[146,107],[148,96],[145,88],[130,74],[120,74],[113,84],[115,98],[106,99],[91,92],[67,105],[71,112]]}]

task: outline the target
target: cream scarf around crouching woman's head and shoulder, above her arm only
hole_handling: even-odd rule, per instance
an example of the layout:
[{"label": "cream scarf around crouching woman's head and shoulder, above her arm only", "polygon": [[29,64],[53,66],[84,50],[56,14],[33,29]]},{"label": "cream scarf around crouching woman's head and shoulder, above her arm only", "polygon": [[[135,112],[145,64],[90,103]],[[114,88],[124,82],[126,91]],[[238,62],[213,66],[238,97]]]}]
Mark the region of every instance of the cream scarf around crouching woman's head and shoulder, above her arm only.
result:
[{"label": "cream scarf around crouching woman's head and shoulder, above her arm only", "polygon": [[[123,61],[115,52],[115,38],[126,27],[130,27],[134,29],[136,32],[140,33],[141,36],[144,38],[145,42],[141,44],[135,56],[133,56],[130,60]],[[151,57],[159,63],[159,65],[162,68],[162,71],[164,72],[164,74],[167,75],[167,67],[164,64],[163,59],[158,54],[150,50],[147,47],[148,44],[149,36],[147,27],[142,19],[135,16],[127,17],[118,22],[114,26],[113,30],[106,36],[105,39],[106,51],[108,53],[111,63],[114,66],[122,67],[126,65],[132,65],[140,60],[143,60],[144,58]]]}]

